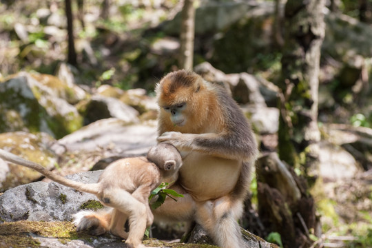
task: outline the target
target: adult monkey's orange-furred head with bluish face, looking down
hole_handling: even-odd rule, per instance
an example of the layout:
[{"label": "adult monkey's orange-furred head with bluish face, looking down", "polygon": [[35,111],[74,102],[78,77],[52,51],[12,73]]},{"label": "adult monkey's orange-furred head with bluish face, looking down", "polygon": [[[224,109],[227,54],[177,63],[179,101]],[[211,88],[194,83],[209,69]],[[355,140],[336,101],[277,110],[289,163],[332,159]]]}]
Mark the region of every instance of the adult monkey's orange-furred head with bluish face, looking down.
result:
[{"label": "adult monkey's orange-furred head with bluish face, looking down", "polygon": [[200,101],[206,101],[200,94],[204,87],[202,77],[194,72],[170,72],[156,85],[160,116],[169,118],[178,127],[195,123],[195,109]]}]

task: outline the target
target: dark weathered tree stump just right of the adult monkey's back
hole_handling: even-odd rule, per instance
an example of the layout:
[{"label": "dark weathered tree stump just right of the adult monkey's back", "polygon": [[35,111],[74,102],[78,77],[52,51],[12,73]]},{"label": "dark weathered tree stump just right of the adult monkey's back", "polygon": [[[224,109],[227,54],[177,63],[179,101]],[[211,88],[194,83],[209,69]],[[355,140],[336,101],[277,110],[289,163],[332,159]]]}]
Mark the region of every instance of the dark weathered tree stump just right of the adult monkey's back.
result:
[{"label": "dark weathered tree stump just right of the adult monkey's back", "polygon": [[304,178],[276,153],[258,159],[256,175],[258,215],[265,229],[278,232],[285,248],[311,247],[309,236],[320,236],[320,223]]}]

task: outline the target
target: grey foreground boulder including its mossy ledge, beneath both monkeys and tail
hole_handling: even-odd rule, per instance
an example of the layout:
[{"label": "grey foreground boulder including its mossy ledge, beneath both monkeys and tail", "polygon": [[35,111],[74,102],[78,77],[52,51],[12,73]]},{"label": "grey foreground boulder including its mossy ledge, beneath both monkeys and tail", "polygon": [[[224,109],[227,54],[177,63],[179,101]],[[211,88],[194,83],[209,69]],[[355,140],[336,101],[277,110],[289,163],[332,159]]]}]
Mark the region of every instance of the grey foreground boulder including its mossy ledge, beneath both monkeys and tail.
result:
[{"label": "grey foreground boulder including its mossy ledge, beneath both monkeys and tail", "polygon": [[[95,183],[101,173],[102,171],[83,172],[67,176],[67,178],[83,183]],[[96,196],[78,192],[54,182],[30,183],[9,189],[0,196],[0,245],[11,247],[15,238],[23,240],[25,244],[32,244],[36,241],[43,247],[51,248],[123,247],[121,238],[109,234],[99,237],[90,236],[85,231],[76,232],[72,223],[55,222],[56,220],[70,221],[72,214],[81,209],[101,207]],[[15,221],[17,222],[10,223]],[[8,235],[6,230],[9,231]],[[246,247],[276,247],[243,229],[242,235],[246,240]],[[193,231],[189,242],[200,244],[201,240],[204,240],[203,243],[208,247],[215,247],[209,245],[211,239],[206,236],[203,229],[198,227]],[[143,243],[152,247],[169,246],[166,242],[156,239],[145,239]],[[173,242],[171,246],[175,248],[195,247],[195,245],[182,242]]]}]

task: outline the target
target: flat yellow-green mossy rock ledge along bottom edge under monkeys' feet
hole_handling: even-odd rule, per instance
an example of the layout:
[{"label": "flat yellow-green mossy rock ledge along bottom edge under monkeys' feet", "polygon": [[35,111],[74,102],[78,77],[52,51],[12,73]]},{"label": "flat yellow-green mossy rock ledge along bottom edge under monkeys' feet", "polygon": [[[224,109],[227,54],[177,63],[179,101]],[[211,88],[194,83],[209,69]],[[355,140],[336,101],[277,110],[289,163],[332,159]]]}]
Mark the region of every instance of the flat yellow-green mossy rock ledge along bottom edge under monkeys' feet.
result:
[{"label": "flat yellow-green mossy rock ledge along bottom edge under monkeys' feet", "polygon": [[[145,238],[145,246],[173,248],[217,248],[214,245],[166,243],[154,238]],[[70,222],[17,221],[0,225],[0,247],[125,247],[121,238],[110,234],[92,236],[87,231],[76,231]]]}]

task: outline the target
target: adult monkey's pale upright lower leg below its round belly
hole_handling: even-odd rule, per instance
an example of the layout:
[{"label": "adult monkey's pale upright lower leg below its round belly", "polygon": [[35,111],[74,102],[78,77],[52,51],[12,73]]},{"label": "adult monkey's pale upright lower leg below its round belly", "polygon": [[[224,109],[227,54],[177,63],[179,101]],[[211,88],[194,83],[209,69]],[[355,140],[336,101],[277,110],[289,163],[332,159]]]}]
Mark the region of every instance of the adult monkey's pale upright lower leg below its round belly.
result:
[{"label": "adult monkey's pale upright lower leg below its round belly", "polygon": [[216,245],[223,248],[242,248],[244,242],[236,216],[242,205],[232,202],[228,196],[199,203],[196,221],[202,225]]}]

